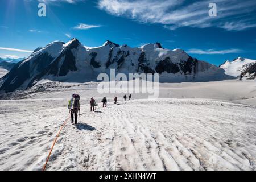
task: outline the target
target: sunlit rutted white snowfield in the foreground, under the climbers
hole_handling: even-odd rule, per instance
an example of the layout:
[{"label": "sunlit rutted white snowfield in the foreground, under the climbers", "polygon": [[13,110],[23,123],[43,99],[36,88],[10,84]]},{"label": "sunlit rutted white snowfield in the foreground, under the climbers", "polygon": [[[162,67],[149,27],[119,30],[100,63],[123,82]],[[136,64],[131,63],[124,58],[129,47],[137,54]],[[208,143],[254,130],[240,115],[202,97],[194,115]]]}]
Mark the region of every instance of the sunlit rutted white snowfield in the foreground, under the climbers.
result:
[{"label": "sunlit rutted white snowfield in the foreground, under the climbers", "polygon": [[[1,170],[41,170],[68,118],[67,107],[26,102],[2,101]],[[47,170],[255,170],[255,106],[159,99],[96,111],[82,105],[79,125],[64,126]]]}]

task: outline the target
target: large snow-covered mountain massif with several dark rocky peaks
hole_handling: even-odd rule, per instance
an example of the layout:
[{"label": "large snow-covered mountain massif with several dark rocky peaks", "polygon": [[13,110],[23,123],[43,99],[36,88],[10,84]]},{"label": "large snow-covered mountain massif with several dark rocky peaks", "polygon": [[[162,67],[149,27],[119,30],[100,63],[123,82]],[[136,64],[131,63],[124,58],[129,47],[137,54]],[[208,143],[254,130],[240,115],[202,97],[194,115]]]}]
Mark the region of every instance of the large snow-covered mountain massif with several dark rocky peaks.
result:
[{"label": "large snow-covered mountain massif with several dark rocky peaks", "polygon": [[97,81],[99,73],[159,73],[161,82],[213,81],[233,78],[222,68],[199,61],[181,49],[164,49],[160,43],[139,48],[111,41],[86,47],[77,39],[39,47],[0,79],[0,91],[27,89],[42,79],[61,82]]}]

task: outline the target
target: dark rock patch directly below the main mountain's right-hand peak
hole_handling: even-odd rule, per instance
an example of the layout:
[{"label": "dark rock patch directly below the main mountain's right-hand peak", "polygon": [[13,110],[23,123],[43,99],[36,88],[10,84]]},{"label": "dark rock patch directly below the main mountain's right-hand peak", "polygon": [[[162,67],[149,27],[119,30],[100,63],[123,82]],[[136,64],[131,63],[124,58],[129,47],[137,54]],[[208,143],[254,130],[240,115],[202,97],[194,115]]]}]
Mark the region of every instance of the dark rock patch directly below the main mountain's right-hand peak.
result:
[{"label": "dark rock patch directly below the main mountain's right-hand peak", "polygon": [[170,57],[166,57],[163,61],[160,61],[158,65],[155,67],[155,71],[159,74],[162,74],[163,72],[167,73],[179,73],[180,69],[178,64],[172,63]]}]

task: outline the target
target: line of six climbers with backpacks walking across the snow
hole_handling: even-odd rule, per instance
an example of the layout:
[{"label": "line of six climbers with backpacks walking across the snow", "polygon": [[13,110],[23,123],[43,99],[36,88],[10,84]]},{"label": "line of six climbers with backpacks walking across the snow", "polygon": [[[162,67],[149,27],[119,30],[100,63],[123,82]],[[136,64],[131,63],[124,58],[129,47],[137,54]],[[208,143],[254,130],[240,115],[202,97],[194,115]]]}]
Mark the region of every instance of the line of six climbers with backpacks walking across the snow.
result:
[{"label": "line of six climbers with backpacks walking across the snow", "polygon": [[[127,96],[123,96],[123,99],[126,101]],[[129,101],[131,100],[131,94],[129,95]],[[108,102],[106,100],[106,97],[102,98],[102,107],[106,107],[106,103]],[[117,104],[117,97],[114,98],[114,104]],[[90,98],[90,111],[94,111],[96,106],[96,101],[94,98]],[[73,94],[71,100],[68,102],[68,109],[69,113],[71,114],[71,123],[72,125],[75,124],[77,125],[77,116],[79,117],[80,115],[80,96],[78,94]],[[75,116],[75,119],[74,119]],[[75,123],[74,123],[75,120]]]}]

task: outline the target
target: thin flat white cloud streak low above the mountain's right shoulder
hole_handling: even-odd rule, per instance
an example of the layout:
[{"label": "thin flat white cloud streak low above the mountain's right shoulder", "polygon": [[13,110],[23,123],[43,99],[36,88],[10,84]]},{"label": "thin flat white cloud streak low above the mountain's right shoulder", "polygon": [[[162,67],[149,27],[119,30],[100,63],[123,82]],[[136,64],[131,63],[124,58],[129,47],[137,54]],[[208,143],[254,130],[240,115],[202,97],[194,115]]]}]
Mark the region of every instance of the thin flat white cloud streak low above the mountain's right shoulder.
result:
[{"label": "thin flat white cloud streak low above the mountain's right shoulder", "polygon": [[224,55],[226,53],[241,53],[243,52],[241,49],[224,49],[224,50],[216,50],[216,49],[189,49],[187,53],[194,53],[197,55]]}]

